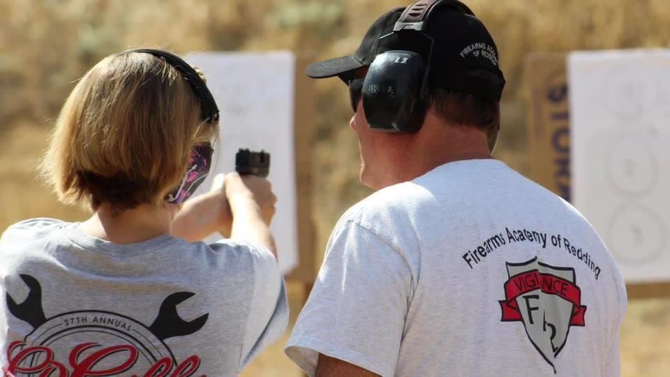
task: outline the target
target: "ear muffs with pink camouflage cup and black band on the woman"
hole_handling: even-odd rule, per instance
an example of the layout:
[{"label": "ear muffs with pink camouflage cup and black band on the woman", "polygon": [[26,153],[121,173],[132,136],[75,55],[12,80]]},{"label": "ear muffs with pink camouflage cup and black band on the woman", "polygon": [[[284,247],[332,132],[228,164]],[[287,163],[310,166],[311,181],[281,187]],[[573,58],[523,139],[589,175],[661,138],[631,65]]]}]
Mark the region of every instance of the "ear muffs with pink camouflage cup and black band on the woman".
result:
[{"label": "ear muffs with pink camouflage cup and black band on the woman", "polygon": [[[198,98],[202,112],[202,121],[208,124],[213,124],[218,121],[219,112],[216,101],[214,101],[214,96],[211,95],[211,92],[207,88],[207,84],[205,84],[204,80],[202,80],[200,75],[198,75],[198,72],[196,72],[190,64],[186,63],[186,61],[177,55],[163,50],[139,48],[128,50],[123,53],[131,52],[154,55],[174,67],[174,69],[179,71],[181,76],[184,77],[184,80],[188,82],[191,89],[193,89],[193,93]],[[209,168],[211,168],[212,154],[214,154],[214,149],[209,142],[195,145],[191,151],[191,156],[189,156],[188,168],[186,169],[184,177],[181,178],[181,183],[177,188],[174,188],[174,190],[168,193],[165,197],[165,201],[181,204],[186,201],[186,199],[190,198],[195,192],[195,189],[204,182],[205,178],[207,178]]]}]

